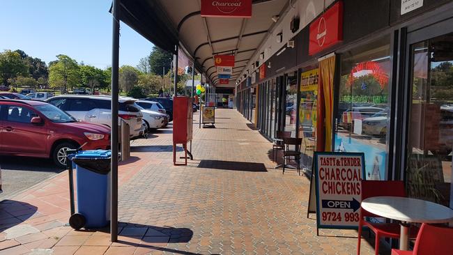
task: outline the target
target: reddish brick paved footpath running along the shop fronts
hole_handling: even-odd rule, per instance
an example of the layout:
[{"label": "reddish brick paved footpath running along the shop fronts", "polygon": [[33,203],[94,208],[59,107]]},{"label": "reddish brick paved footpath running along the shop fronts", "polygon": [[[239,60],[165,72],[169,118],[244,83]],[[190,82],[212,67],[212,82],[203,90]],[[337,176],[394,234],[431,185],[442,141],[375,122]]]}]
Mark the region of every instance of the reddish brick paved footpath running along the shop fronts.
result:
[{"label": "reddish brick paved footpath running along the shop fronts", "polygon": [[[132,141],[132,157],[119,167],[118,242],[109,229],[65,226],[65,172],[0,203],[0,255],[355,254],[356,231],[316,235],[309,180],[273,169],[272,145],[237,111],[217,109],[216,128],[197,121],[195,114],[187,167],[171,162],[171,128]],[[362,254],[373,247],[365,240]]]}]

